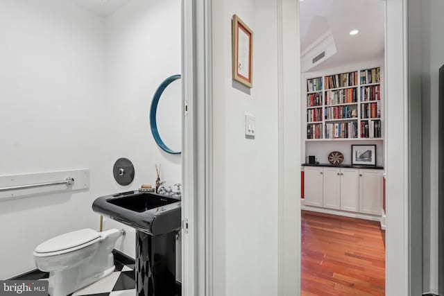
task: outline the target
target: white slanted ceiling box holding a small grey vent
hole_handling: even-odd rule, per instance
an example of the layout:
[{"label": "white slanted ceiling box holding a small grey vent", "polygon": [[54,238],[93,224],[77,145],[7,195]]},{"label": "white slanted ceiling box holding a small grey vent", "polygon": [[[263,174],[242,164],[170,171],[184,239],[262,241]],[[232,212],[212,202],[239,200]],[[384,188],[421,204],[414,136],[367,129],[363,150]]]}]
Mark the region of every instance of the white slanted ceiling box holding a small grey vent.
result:
[{"label": "white slanted ceiling box holding a small grey vent", "polygon": [[307,49],[301,53],[300,69],[302,72],[307,72],[309,69],[321,64],[336,53],[336,44],[334,43],[333,35],[330,31],[327,31],[327,33],[307,46]]}]

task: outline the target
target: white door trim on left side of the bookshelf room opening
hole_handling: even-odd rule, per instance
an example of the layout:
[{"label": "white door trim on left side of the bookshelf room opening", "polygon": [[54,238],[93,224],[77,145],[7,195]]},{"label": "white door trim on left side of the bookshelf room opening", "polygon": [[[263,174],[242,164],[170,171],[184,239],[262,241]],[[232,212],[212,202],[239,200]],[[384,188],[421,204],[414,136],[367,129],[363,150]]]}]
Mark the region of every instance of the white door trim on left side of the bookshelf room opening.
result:
[{"label": "white door trim on left side of the bookshelf room opening", "polygon": [[299,1],[278,0],[278,295],[300,295]]}]

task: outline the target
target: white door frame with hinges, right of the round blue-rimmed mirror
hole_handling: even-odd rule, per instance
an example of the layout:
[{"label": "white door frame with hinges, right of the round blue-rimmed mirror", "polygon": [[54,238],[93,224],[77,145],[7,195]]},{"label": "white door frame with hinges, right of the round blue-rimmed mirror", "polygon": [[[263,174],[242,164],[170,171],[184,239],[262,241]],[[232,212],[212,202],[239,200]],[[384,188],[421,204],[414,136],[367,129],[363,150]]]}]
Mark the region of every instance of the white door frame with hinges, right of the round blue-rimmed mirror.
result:
[{"label": "white door frame with hinges, right of the round blue-rimmed mirror", "polygon": [[[182,295],[210,295],[210,5],[182,1]],[[211,246],[211,245],[210,245]]]}]

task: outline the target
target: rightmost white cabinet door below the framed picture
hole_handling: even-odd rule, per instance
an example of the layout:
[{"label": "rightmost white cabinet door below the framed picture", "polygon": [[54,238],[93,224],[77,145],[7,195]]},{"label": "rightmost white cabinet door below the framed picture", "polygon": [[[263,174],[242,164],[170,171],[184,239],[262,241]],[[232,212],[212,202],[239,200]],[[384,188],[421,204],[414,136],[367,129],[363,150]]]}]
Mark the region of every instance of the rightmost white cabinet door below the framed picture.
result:
[{"label": "rightmost white cabinet door below the framed picture", "polygon": [[359,211],[364,214],[381,215],[382,172],[359,170]]}]

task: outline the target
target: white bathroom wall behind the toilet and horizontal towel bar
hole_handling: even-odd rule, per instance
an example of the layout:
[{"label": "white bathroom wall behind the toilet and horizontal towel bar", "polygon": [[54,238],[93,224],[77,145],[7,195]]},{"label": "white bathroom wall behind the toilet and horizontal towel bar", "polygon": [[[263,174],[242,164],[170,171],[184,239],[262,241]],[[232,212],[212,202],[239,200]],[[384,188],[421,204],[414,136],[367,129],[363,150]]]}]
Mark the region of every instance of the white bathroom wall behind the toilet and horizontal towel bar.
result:
[{"label": "white bathroom wall behind the toilet and horizontal towel bar", "polygon": [[91,204],[110,192],[112,164],[101,151],[108,125],[101,18],[68,1],[0,5],[0,174],[91,173],[89,191],[0,202],[5,279],[35,268],[33,250],[42,241],[99,227]]}]

